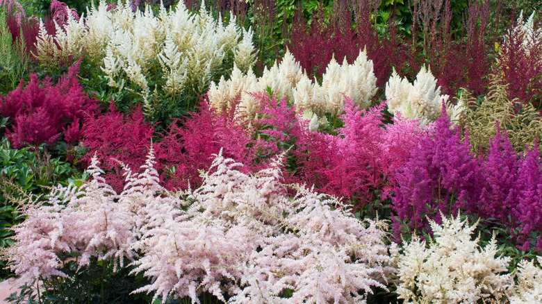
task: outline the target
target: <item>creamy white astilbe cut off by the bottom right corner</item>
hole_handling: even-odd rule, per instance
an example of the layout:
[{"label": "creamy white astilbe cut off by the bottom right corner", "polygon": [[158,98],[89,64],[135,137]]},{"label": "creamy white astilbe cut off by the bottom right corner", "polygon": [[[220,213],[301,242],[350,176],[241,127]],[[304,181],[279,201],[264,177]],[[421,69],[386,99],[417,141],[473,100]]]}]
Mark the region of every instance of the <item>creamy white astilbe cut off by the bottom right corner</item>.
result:
[{"label": "creamy white astilbe cut off by the bottom right corner", "polygon": [[[537,256],[538,264],[542,257]],[[542,303],[542,269],[534,261],[521,260],[518,264],[516,293],[509,298],[510,304]]]}]

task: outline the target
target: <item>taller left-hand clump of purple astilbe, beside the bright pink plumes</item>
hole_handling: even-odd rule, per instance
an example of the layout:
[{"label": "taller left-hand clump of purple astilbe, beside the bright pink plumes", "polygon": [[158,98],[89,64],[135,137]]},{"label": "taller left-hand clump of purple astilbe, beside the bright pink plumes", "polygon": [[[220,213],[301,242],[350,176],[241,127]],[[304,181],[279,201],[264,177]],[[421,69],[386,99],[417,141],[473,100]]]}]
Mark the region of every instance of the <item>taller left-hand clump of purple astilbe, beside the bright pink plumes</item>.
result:
[{"label": "taller left-hand clump of purple astilbe, beside the bright pink plumes", "polygon": [[[457,128],[443,115],[434,123],[432,133],[412,149],[411,157],[398,173],[392,209],[393,229],[400,239],[401,221],[410,229],[427,228],[428,216],[438,221],[438,211],[454,214],[459,208],[475,210],[482,172],[479,160],[470,153],[468,136],[461,142]],[[455,203],[452,204],[452,201]]]}]

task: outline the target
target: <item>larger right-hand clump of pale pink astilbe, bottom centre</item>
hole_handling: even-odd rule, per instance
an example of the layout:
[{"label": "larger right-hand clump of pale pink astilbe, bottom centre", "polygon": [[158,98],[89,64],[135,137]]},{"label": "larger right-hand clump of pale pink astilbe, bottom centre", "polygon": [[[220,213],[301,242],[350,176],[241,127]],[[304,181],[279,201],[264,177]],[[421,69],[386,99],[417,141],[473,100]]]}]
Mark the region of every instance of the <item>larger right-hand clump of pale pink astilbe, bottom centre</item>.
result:
[{"label": "larger right-hand clump of pale pink astilbe, bottom centre", "polygon": [[[229,303],[352,303],[385,288],[380,223],[367,227],[333,210],[335,199],[284,185],[279,161],[254,175],[240,166],[217,155],[186,212],[156,214],[163,223],[147,230],[134,262],[152,283],[137,292],[196,303],[202,292],[233,295]],[[286,289],[293,296],[279,298]]]}]

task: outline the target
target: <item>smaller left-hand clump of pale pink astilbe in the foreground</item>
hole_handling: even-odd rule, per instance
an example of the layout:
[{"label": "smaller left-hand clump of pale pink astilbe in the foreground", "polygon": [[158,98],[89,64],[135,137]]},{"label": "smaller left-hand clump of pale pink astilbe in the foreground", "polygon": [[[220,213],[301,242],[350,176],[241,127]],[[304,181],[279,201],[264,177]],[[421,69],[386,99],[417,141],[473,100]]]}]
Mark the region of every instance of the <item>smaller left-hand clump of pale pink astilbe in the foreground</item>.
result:
[{"label": "smaller left-hand clump of pale pink astilbe in the foreground", "polygon": [[118,202],[119,196],[101,176],[97,158],[92,159],[90,182],[76,188],[58,186],[47,204],[29,205],[26,219],[15,226],[15,245],[3,254],[11,261],[11,270],[21,280],[67,277],[61,271],[61,256],[75,253],[83,267],[90,257],[115,261],[115,269],[124,267],[124,259],[137,254],[131,248],[136,233],[131,206]]}]

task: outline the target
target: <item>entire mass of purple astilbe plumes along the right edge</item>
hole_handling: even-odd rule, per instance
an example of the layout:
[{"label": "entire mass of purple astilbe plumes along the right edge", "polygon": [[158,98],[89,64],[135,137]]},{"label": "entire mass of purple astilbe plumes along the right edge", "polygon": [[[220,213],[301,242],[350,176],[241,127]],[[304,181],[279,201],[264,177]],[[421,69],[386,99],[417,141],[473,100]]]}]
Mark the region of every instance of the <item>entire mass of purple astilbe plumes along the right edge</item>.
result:
[{"label": "entire mass of purple astilbe plumes along the right edge", "polygon": [[541,155],[536,147],[518,155],[503,133],[499,130],[490,149],[476,156],[470,153],[468,135],[461,142],[450,120],[445,115],[438,119],[434,132],[420,140],[396,176],[395,237],[399,239],[405,229],[427,228],[426,216],[438,221],[439,211],[462,210],[495,219],[528,249],[536,238],[531,233],[542,229],[542,217],[533,211],[542,207]]}]

